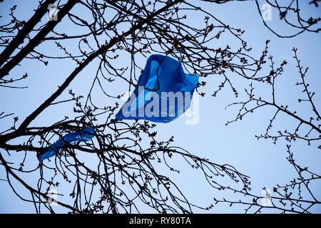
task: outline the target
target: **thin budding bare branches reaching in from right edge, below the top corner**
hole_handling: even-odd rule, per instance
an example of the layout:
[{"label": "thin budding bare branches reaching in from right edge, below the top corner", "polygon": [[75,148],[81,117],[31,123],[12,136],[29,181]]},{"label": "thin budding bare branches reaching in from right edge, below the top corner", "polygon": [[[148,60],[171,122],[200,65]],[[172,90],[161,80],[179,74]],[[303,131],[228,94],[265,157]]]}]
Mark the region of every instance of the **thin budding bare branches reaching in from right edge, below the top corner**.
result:
[{"label": "thin budding bare branches reaching in from right edge, below the top corner", "polygon": [[[285,185],[275,185],[273,187],[274,194],[272,192],[268,192],[265,188],[266,195],[263,196],[267,200],[269,200],[268,204],[260,202],[259,199],[262,199],[262,196],[252,195],[246,191],[240,191],[239,193],[243,193],[247,196],[252,197],[252,201],[250,202],[233,202],[229,200],[219,200],[215,199],[216,202],[228,202],[230,204],[245,204],[248,207],[245,208],[245,212],[248,212],[251,208],[256,208],[256,212],[261,212],[262,209],[272,208],[277,209],[282,213],[285,212],[297,212],[297,213],[308,213],[309,209],[314,205],[320,205],[320,199],[318,199],[317,192],[310,187],[315,184],[315,182],[320,182],[321,175],[315,172],[312,172],[308,169],[308,167],[303,167],[302,165],[297,164],[295,161],[294,152],[291,150],[291,142],[295,142],[296,140],[303,140],[307,142],[307,147],[311,146],[311,142],[319,142],[321,138],[321,130],[320,130],[320,114],[315,106],[315,102],[313,100],[313,96],[315,92],[312,92],[308,87],[310,84],[307,82],[307,70],[308,68],[304,68],[300,59],[297,56],[297,48],[293,48],[293,58],[297,63],[297,70],[300,81],[297,81],[295,86],[302,87],[302,93],[304,93],[303,97],[298,97],[297,101],[299,103],[309,103],[310,104],[310,118],[306,118],[305,116],[299,115],[296,110],[291,110],[291,108],[286,104],[280,104],[277,100],[277,92],[275,91],[275,84],[277,82],[277,77],[282,75],[284,69],[283,67],[287,64],[286,61],[283,61],[279,67],[275,66],[275,62],[273,61],[272,56],[270,59],[270,74],[266,78],[258,78],[259,80],[263,80],[264,83],[267,83],[271,88],[271,97],[270,98],[261,98],[258,95],[255,95],[255,88],[253,83],[250,83],[250,88],[245,88],[246,93],[248,94],[248,100],[239,103],[232,103],[230,105],[239,105],[240,110],[238,115],[234,120],[228,121],[227,125],[238,120],[243,120],[245,115],[250,113],[254,113],[255,110],[258,110],[263,107],[270,107],[275,110],[275,113],[270,118],[270,122],[267,125],[265,133],[260,135],[255,135],[258,140],[261,139],[270,139],[273,143],[277,143],[277,140],[284,139],[287,141],[287,161],[292,165],[294,170],[297,172],[297,177],[293,177],[292,180],[288,184]],[[228,105],[228,106],[230,106]],[[271,133],[272,130],[278,128],[277,125],[273,126],[275,120],[280,115],[286,115],[287,118],[294,119],[297,122],[297,126],[293,128],[293,126],[289,126],[289,128],[293,128],[294,130],[287,129],[277,129],[275,133]],[[321,146],[318,145],[318,148],[321,149]],[[302,196],[302,192],[307,192],[305,197]],[[275,196],[276,193],[276,196]]]}]

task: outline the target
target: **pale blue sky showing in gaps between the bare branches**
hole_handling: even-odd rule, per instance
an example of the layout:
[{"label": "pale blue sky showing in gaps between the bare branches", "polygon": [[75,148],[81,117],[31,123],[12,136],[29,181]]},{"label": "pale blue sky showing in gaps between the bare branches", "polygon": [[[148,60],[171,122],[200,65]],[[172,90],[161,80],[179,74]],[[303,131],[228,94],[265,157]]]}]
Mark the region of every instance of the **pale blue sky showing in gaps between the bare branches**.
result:
[{"label": "pale blue sky showing in gaps between the bare branches", "polygon": [[[285,66],[285,73],[278,78],[276,91],[277,99],[279,103],[290,104],[291,110],[297,110],[301,115],[310,117],[310,107],[308,105],[302,105],[297,103],[297,98],[302,98],[301,90],[295,85],[296,81],[300,81],[295,68],[295,61],[292,59],[292,48],[295,46],[298,48],[298,56],[302,59],[302,66],[309,67],[307,81],[310,83],[310,90],[316,92],[314,96],[315,105],[320,108],[320,34],[314,33],[303,33],[295,38],[284,39],[277,38],[274,34],[267,30],[263,26],[263,22],[260,19],[260,15],[256,9],[254,1],[235,2],[223,5],[216,5],[212,3],[205,3],[200,1],[193,1],[195,4],[199,2],[200,6],[204,6],[204,9],[214,14],[225,24],[230,24],[236,28],[245,29],[243,38],[248,41],[248,45],[253,47],[252,54],[254,56],[260,56],[265,46],[265,40],[270,39],[269,55],[274,56],[276,65],[282,63],[283,60],[288,62]],[[290,2],[290,1],[289,1]],[[33,14],[32,9],[38,4],[38,1],[5,1],[0,3],[0,15],[4,18],[0,18],[0,23],[4,24],[6,21],[6,15],[9,12],[9,8],[14,4],[18,4],[16,15],[20,16],[20,19],[29,19]],[[73,9],[76,11],[77,9]],[[315,9],[312,6],[304,5],[303,11],[311,14],[311,16],[320,16],[321,8]],[[78,12],[77,12],[78,13]],[[198,16],[197,12],[190,14],[191,23],[199,24],[203,23],[203,18]],[[275,30],[280,31],[283,34],[293,33],[294,31],[279,20],[279,16],[276,10],[272,10],[272,21],[268,22],[272,25]],[[77,33],[75,28],[66,26],[58,26],[59,31],[66,30],[68,34]],[[224,35],[215,41],[213,45],[225,46],[228,43],[230,46],[238,46],[235,43],[235,39],[230,40],[230,36],[225,37]],[[72,47],[72,43],[70,44]],[[67,46],[69,48],[69,46]],[[0,51],[2,49],[0,48]],[[63,52],[56,48],[56,46],[39,46],[39,51],[44,53],[50,53],[51,55],[63,55]],[[130,58],[127,56],[121,56],[120,64],[130,65]],[[146,58],[138,58],[137,63],[143,68],[145,65]],[[28,72],[29,78],[21,83],[16,83],[17,86],[28,86],[24,90],[14,90],[7,88],[0,88],[0,111],[6,113],[16,113],[19,116],[20,122],[24,120],[26,115],[29,115],[35,108],[37,108],[51,93],[56,90],[58,85],[65,80],[66,75],[70,73],[74,65],[70,65],[68,61],[49,61],[49,66],[46,67],[44,64],[36,62],[34,60],[24,60],[21,68],[15,68],[11,71],[12,75],[19,75]],[[71,83],[68,89],[72,88],[76,94],[88,93],[91,84],[86,83],[91,81],[91,78],[95,76],[97,61],[93,61],[87,66],[76,79]],[[265,71],[268,71],[265,68]],[[88,79],[89,78],[89,79]],[[232,120],[238,112],[238,108],[228,108],[225,110],[225,106],[235,101],[245,99],[244,90],[241,89],[243,85],[248,85],[248,82],[240,80],[238,77],[232,77],[235,86],[237,86],[240,97],[236,98],[233,93],[225,88],[223,91],[218,93],[218,96],[213,98],[211,94],[213,90],[216,90],[217,86],[221,83],[222,78],[212,77],[207,78],[207,86],[200,89],[200,92],[205,92],[204,98],[200,97],[199,104],[199,122],[195,125],[186,125],[185,118],[178,118],[172,123],[158,124],[156,130],[158,131],[158,139],[168,139],[171,135],[175,136],[175,142],[173,145],[178,145],[184,149],[192,152],[200,157],[207,157],[213,162],[218,164],[228,163],[237,168],[238,171],[243,172],[245,175],[249,175],[252,183],[252,193],[260,195],[263,187],[267,187],[272,190],[272,187],[276,184],[286,184],[292,180],[293,177],[297,177],[293,167],[287,162],[285,157],[286,143],[284,140],[280,140],[277,145],[272,144],[270,140],[256,140],[254,135],[265,133],[265,129],[269,123],[274,110],[272,108],[260,109],[252,115],[248,115],[243,121],[233,123],[225,126],[228,120]],[[49,86],[50,85],[50,86]],[[126,91],[128,86],[125,84],[108,88],[111,93],[123,93]],[[68,98],[68,89],[63,95],[57,100],[62,98]],[[259,88],[258,88],[259,90]],[[269,95],[270,87],[260,87],[258,94]],[[116,102],[97,94],[98,102],[105,105],[110,105]],[[120,101],[118,101],[120,102]],[[61,120],[64,115],[69,115],[72,112],[71,104],[63,104],[57,107],[51,106],[47,108],[39,118],[37,118],[32,125],[51,125],[56,120]],[[0,130],[6,129],[13,123],[12,118],[6,118],[0,120]],[[275,131],[284,130],[285,128],[292,130],[297,126],[297,122],[287,118],[285,115],[280,115],[280,118],[275,122]],[[288,127],[287,127],[288,126]],[[14,142],[14,141],[12,141]],[[147,140],[146,146],[149,141]],[[144,145],[144,144],[143,144]],[[320,149],[317,146],[320,142],[312,142],[312,145],[307,146],[307,142],[297,141],[292,143],[292,152],[294,152],[296,161],[303,167],[307,166],[310,171],[319,173],[321,172],[320,160],[321,154]],[[6,152],[0,150],[4,155]],[[19,164],[24,159],[24,153],[11,152],[9,160]],[[28,155],[28,164],[30,167],[34,167],[37,164],[36,154],[31,152]],[[33,162],[34,160],[34,162]],[[183,190],[190,202],[199,204],[201,206],[208,206],[213,203],[213,197],[228,199],[239,199],[239,195],[225,194],[227,192],[218,192],[213,190],[205,178],[200,172],[195,170],[185,169],[185,163],[180,160],[175,160],[173,163],[174,167],[179,167],[182,173],[180,175],[171,174],[171,179]],[[161,172],[167,173],[166,170]],[[36,179],[34,177],[25,176],[26,180],[31,183]],[[3,167],[0,167],[0,179],[6,179],[5,171]],[[229,181],[226,178],[226,181]],[[61,186],[63,183],[61,182]],[[315,190],[318,199],[321,199],[321,183],[318,182],[316,185],[312,185],[312,189]],[[18,188],[21,192],[24,190]],[[70,192],[59,188],[58,193],[65,194],[68,197]],[[23,194],[28,195],[28,192]],[[306,195],[306,192],[303,192]],[[65,197],[58,198],[62,201]],[[250,199],[248,199],[250,200]],[[201,211],[195,209],[195,212],[204,213],[243,213],[244,207],[233,206],[229,207],[228,204],[218,204],[210,211]],[[28,204],[21,201],[14,193],[5,181],[0,181],[0,213],[34,213],[34,205]],[[44,211],[45,212],[45,211]],[[58,209],[57,212],[66,212],[65,209]],[[144,212],[153,212],[150,209]],[[273,212],[269,210],[263,210],[263,212]],[[321,212],[321,207],[313,207],[312,212]]]}]

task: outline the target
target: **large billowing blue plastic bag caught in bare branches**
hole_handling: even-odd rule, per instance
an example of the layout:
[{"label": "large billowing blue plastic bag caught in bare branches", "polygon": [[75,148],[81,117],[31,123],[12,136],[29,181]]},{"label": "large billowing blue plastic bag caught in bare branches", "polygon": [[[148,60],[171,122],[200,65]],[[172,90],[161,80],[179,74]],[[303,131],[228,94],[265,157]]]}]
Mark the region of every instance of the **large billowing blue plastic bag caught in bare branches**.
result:
[{"label": "large billowing blue plastic bag caught in bare branches", "polygon": [[198,76],[184,73],[179,61],[151,55],[138,78],[138,87],[111,123],[134,119],[158,123],[175,120],[190,107],[197,85]]}]

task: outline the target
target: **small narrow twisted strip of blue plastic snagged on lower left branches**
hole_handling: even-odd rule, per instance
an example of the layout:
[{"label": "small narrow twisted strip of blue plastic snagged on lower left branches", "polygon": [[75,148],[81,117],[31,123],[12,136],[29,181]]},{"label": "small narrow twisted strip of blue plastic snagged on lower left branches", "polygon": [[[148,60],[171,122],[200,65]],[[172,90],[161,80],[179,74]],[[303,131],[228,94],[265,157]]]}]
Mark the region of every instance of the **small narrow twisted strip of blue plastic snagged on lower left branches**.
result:
[{"label": "small narrow twisted strip of blue plastic snagged on lower left branches", "polygon": [[46,150],[44,152],[38,152],[37,157],[39,161],[45,160],[49,157],[53,157],[56,155],[57,152],[59,152],[60,148],[65,145],[66,143],[71,142],[86,142],[88,140],[91,140],[95,136],[95,130],[93,128],[84,128],[80,131],[75,131],[73,133],[69,133],[67,135],[64,135],[63,138],[60,138],[57,140],[54,145],[51,145],[49,147],[46,147]]}]

